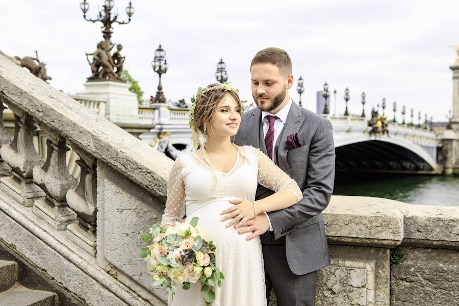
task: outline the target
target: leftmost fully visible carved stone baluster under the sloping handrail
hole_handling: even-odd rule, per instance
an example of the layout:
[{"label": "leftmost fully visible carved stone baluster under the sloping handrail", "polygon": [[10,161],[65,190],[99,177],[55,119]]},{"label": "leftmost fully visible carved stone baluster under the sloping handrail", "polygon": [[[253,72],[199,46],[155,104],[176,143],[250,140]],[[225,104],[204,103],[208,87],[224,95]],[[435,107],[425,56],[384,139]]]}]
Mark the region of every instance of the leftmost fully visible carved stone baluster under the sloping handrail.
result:
[{"label": "leftmost fully visible carved stone baluster under the sloping handrail", "polygon": [[43,164],[34,148],[33,137],[37,127],[33,118],[22,110],[9,106],[14,113],[14,137],[3,145],[0,156],[11,167],[12,176],[0,179],[0,188],[24,206],[31,207],[45,193],[34,183],[32,171]]}]

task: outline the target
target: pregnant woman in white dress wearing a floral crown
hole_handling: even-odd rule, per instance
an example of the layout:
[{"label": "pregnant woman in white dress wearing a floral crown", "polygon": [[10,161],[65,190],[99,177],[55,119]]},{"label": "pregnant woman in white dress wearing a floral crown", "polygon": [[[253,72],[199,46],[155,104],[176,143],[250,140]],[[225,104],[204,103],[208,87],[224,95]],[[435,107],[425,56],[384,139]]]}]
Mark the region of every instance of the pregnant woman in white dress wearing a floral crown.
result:
[{"label": "pregnant woman in white dress wearing a floral crown", "polygon": [[[260,239],[247,241],[235,227],[244,227],[259,213],[294,205],[302,198],[301,190],[262,151],[231,142],[243,111],[237,89],[228,83],[211,85],[200,88],[193,100],[190,127],[193,145],[200,149],[175,160],[161,226],[171,226],[185,215],[199,218],[197,227],[217,246],[216,265],[225,276],[221,288],[214,288],[213,306],[266,305]],[[258,184],[276,193],[254,201]],[[235,199],[242,201],[230,203]],[[224,210],[233,217],[229,223],[222,221]],[[189,290],[176,288],[173,299],[169,294],[168,305],[205,305],[199,282],[190,285]]]}]

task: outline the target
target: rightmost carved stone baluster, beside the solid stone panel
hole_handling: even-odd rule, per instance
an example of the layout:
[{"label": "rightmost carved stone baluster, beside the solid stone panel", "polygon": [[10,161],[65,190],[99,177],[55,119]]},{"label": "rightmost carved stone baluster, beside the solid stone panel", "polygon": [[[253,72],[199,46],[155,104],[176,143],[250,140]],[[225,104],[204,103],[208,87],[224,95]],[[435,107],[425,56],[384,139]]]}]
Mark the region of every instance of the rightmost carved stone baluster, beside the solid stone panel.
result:
[{"label": "rightmost carved stone baluster, beside the solid stone panel", "polygon": [[67,237],[92,256],[96,256],[97,161],[78,146],[72,149],[80,156],[80,184],[67,192],[68,206],[77,213],[77,223],[67,226]]}]

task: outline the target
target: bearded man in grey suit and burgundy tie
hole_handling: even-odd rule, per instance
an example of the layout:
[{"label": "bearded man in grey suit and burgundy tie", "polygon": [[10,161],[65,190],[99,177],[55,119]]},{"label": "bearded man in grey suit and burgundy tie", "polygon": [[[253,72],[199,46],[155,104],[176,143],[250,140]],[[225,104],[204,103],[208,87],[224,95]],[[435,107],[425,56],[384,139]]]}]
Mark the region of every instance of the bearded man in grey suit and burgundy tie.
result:
[{"label": "bearded man in grey suit and burgundy tie", "polygon": [[[248,238],[261,235],[268,303],[274,289],[279,306],[314,305],[317,271],[330,264],[321,212],[335,179],[331,123],[289,97],[292,63],[284,50],[258,52],[250,74],[258,108],[242,116],[235,143],[261,149],[296,181],[303,198],[287,209],[258,215],[239,233],[255,228]],[[259,185],[256,199],[272,193]]]}]

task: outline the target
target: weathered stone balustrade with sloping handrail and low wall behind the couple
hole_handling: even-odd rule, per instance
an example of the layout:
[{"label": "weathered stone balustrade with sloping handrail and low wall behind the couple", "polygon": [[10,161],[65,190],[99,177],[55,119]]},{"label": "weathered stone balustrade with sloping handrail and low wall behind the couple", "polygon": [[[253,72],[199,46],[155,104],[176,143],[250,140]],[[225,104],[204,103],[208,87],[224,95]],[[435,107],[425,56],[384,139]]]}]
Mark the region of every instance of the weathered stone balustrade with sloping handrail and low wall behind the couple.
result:
[{"label": "weathered stone balustrade with sloping handrail and low wall behind the couple", "polygon": [[[12,137],[0,123],[0,246],[88,305],[165,305],[138,233],[162,215],[172,161],[1,56],[0,102],[15,116]],[[34,149],[37,126],[46,159]],[[324,218],[332,264],[319,273],[317,305],[459,299],[458,207],[333,196]]]}]

